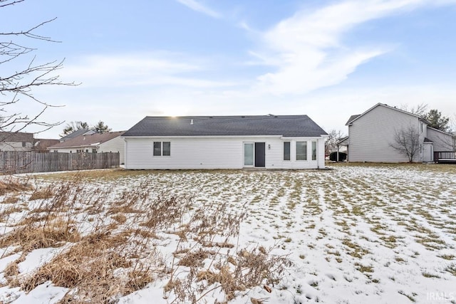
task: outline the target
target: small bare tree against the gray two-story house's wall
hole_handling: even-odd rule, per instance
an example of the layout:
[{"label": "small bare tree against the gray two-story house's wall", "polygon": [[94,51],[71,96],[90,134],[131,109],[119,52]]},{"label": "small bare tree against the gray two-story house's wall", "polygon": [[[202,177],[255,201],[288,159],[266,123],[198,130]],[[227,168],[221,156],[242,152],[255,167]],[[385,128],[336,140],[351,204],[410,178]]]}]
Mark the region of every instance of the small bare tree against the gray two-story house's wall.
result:
[{"label": "small bare tree against the gray two-story house's wall", "polygon": [[420,151],[420,135],[418,130],[411,125],[396,130],[394,141],[390,143],[390,147],[408,157],[408,162],[413,162],[415,155]]}]

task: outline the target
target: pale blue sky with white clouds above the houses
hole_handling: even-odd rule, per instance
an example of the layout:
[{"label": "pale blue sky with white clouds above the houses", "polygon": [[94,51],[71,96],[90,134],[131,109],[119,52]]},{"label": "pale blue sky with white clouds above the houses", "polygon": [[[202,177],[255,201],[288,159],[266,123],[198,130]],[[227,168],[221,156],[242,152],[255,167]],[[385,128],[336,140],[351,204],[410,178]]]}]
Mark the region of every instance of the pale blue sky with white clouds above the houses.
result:
[{"label": "pale blue sky with white clouds above the houses", "polygon": [[62,122],[40,138],[162,115],[306,114],[346,133],[376,103],[456,116],[456,0],[28,0],[0,8],[0,32],[53,18],[34,33],[61,42],[0,37],[36,49],[0,77],[34,57],[64,60],[60,80],[78,83],[33,88],[53,105],[41,120]]}]

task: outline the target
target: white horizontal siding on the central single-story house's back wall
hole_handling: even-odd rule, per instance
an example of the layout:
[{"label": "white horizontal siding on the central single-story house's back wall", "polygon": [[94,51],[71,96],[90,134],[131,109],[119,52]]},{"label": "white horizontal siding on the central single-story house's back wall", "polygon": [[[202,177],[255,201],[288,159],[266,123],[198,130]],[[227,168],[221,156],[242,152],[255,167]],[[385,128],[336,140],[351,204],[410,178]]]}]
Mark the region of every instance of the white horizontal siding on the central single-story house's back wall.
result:
[{"label": "white horizontal siding on the central single-story house's back wall", "polygon": [[[269,169],[316,169],[324,167],[324,138],[281,137],[124,137],[126,169],[242,169],[244,144],[265,142],[265,167]],[[317,160],[296,161],[296,142],[317,141]],[[152,157],[154,142],[170,142],[170,157]],[[284,160],[284,142],[290,142],[291,160]],[[322,148],[323,147],[323,148]]]}]

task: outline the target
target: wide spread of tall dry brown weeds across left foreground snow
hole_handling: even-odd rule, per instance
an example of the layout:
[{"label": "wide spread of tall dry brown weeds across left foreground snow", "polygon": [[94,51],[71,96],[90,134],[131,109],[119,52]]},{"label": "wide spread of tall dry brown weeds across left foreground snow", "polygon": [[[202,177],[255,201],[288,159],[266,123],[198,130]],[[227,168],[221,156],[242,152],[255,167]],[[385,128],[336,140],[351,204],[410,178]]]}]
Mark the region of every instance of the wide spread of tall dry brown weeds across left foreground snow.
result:
[{"label": "wide spread of tall dry brown weeds across left foreground snow", "polygon": [[[0,236],[0,247],[22,252],[21,259],[38,248],[62,250],[34,273],[19,273],[20,260],[11,263],[4,274],[9,285],[29,292],[51,281],[69,289],[59,303],[114,303],[160,277],[169,279],[165,292],[175,303],[198,303],[213,283],[228,301],[238,291],[275,283],[288,265],[263,247],[239,250],[246,213],[227,204],[195,204],[192,195],[154,192],[147,181],[123,192],[86,187],[88,179],[73,176],[27,188],[31,210],[7,223],[14,229]],[[18,201],[6,206],[6,213],[24,208]],[[180,241],[169,266],[155,242],[171,235]]]}]

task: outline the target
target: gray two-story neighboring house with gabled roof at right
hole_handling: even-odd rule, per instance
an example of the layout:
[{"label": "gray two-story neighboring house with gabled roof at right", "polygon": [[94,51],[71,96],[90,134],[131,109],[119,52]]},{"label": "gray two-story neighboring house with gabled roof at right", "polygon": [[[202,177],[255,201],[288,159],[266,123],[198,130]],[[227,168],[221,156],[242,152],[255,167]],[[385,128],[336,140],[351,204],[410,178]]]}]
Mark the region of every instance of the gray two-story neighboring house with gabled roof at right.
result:
[{"label": "gray two-story neighboring house with gabled roof at right", "polygon": [[430,127],[419,115],[378,103],[361,115],[352,115],[346,125],[348,137],[338,142],[348,149],[349,162],[409,162],[400,153],[396,137],[407,131],[417,138],[413,162],[433,162],[435,151],[452,151],[452,135]]}]

